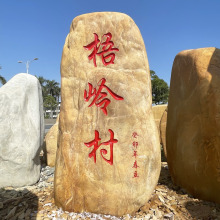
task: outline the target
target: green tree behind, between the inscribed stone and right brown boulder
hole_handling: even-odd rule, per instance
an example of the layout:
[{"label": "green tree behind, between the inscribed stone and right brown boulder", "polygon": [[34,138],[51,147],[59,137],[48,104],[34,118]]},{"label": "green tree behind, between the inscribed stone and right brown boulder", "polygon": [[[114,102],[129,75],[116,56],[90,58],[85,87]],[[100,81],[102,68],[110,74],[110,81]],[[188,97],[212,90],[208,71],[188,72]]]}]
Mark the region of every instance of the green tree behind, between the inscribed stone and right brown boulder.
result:
[{"label": "green tree behind, between the inscribed stone and right brown boulder", "polygon": [[167,83],[160,79],[156,73],[151,70],[152,102],[156,105],[168,102],[169,87]]}]

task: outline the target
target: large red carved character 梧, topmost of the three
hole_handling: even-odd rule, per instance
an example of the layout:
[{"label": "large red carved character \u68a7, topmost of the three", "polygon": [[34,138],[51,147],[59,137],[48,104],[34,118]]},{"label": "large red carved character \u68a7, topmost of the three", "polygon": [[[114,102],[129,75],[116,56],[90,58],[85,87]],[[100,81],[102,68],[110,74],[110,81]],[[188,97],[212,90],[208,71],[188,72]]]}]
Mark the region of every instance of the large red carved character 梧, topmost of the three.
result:
[{"label": "large red carved character \u68a7, topmost of the three", "polygon": [[[97,65],[96,65],[96,55],[97,55],[97,56],[101,56],[102,63],[105,66],[107,66],[109,64],[113,64],[114,60],[115,60],[115,54],[109,53],[109,54],[105,55],[108,52],[119,51],[118,48],[113,48],[114,43],[111,41],[112,34],[111,33],[104,34],[102,36],[102,39],[105,37],[106,40],[103,43],[100,43],[99,37],[96,33],[94,33],[94,37],[95,37],[95,40],[92,43],[90,43],[86,46],[83,46],[86,50],[93,49],[92,53],[88,56],[89,60],[93,59],[94,66],[97,67]],[[102,51],[98,52],[100,48],[102,48]],[[106,61],[109,58],[110,58],[110,61]]]}]

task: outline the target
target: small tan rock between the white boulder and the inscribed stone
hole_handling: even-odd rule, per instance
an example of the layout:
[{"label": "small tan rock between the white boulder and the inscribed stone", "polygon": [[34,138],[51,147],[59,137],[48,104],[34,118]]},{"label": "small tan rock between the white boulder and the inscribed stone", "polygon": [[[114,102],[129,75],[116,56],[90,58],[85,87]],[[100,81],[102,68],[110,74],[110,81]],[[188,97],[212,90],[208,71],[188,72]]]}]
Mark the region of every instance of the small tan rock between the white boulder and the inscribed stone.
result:
[{"label": "small tan rock between the white boulder and the inscribed stone", "polygon": [[59,116],[57,117],[56,123],[50,128],[45,137],[47,165],[50,167],[54,167],[56,161],[57,138],[59,134],[58,124]]}]

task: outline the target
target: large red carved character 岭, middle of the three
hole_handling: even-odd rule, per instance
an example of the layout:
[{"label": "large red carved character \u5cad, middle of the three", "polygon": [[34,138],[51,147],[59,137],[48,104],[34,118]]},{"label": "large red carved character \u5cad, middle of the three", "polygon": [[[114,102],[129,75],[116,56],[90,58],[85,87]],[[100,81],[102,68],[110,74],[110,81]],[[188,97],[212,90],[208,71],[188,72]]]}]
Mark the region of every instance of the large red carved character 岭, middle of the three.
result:
[{"label": "large red carved character \u5cad, middle of the three", "polygon": [[94,99],[89,105],[89,107],[91,107],[94,104],[98,107],[101,107],[103,105],[103,107],[101,107],[101,110],[104,112],[105,115],[107,115],[106,108],[111,101],[110,99],[105,98],[107,96],[107,93],[102,92],[102,89],[105,88],[115,100],[123,100],[124,98],[115,94],[111,89],[108,88],[108,86],[105,85],[106,79],[102,78],[100,81],[101,84],[99,85],[98,91],[96,90],[96,88],[93,88],[93,85],[91,83],[88,83],[89,92],[87,92],[86,90],[84,91],[84,100],[88,102],[90,98],[94,96]]}]

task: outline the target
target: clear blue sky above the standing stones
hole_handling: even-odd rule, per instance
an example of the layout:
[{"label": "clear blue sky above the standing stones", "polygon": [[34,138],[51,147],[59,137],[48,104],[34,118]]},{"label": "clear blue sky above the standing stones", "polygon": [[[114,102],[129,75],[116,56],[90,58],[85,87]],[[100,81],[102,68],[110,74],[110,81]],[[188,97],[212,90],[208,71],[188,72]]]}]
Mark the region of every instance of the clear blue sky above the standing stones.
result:
[{"label": "clear blue sky above the standing stones", "polygon": [[220,0],[0,0],[0,75],[26,72],[60,82],[60,61],[74,17],[97,11],[128,14],[145,42],[150,69],[170,83],[177,53],[220,48]]}]

